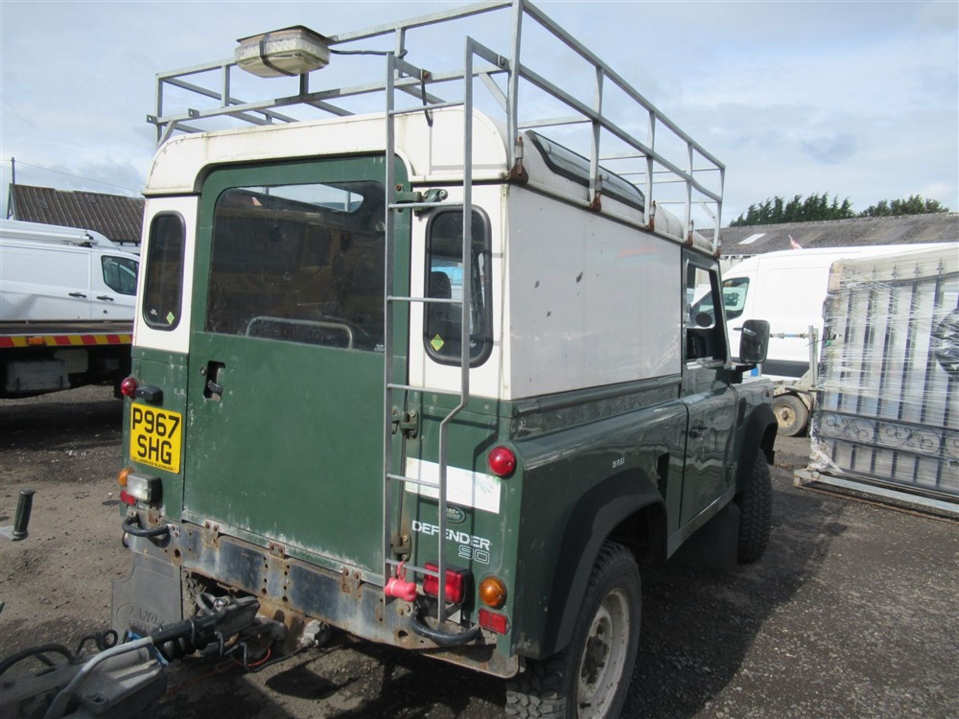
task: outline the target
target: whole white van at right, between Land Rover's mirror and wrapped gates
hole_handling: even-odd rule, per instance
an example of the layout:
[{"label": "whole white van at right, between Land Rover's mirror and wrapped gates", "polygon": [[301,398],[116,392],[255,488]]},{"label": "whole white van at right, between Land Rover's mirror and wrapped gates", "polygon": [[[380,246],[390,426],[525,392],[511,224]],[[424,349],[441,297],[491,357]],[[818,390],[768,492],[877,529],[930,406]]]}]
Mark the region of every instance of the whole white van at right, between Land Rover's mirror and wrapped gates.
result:
[{"label": "whole white van at right, between Land Rover's mirror and wrapped gates", "polygon": [[[723,272],[723,307],[731,346],[737,346],[746,320],[761,317],[769,322],[769,351],[761,373],[778,385],[774,410],[780,432],[792,436],[807,427],[813,389],[807,377],[810,343],[815,336],[822,336],[823,302],[832,263],[937,246],[942,245],[787,249],[756,255]],[[708,310],[710,302],[708,294],[702,300],[697,296],[696,310]]]}]

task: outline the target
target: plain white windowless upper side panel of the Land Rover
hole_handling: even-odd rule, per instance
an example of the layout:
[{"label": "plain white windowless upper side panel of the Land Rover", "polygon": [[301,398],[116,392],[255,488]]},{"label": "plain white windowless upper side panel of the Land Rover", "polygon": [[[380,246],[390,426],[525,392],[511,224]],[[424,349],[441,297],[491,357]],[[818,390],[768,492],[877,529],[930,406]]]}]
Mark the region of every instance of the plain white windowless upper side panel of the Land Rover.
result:
[{"label": "plain white windowless upper side panel of the Land Rover", "polygon": [[509,189],[503,398],[680,371],[681,249]]}]

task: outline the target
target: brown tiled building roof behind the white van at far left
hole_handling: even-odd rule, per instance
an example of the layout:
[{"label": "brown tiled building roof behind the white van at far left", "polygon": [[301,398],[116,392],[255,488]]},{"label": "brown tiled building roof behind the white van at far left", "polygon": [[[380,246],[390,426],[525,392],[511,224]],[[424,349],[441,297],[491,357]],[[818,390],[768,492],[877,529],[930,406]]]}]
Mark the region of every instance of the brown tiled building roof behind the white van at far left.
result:
[{"label": "brown tiled building roof behind the white van at far left", "polygon": [[12,218],[95,230],[117,243],[139,243],[143,197],[11,185]]}]

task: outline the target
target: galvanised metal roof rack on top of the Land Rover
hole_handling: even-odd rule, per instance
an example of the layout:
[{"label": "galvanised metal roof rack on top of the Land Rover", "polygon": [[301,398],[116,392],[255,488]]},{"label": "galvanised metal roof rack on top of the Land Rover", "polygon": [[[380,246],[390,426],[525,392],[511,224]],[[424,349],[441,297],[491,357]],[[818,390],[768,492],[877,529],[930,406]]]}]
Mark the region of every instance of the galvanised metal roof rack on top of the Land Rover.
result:
[{"label": "galvanised metal roof rack on top of the Land Rover", "polygon": [[[631,84],[625,81],[619,73],[613,70],[606,62],[596,57],[592,51],[572,35],[563,30],[550,17],[527,0],[494,0],[468,5],[456,10],[433,12],[408,20],[386,23],[350,33],[341,33],[328,37],[331,52],[335,54],[351,55],[385,55],[390,57],[387,66],[391,67],[390,81],[371,81],[342,87],[328,87],[321,90],[310,89],[310,74],[299,76],[299,90],[296,94],[246,102],[231,94],[231,71],[236,66],[232,58],[215,62],[208,62],[193,67],[182,68],[170,72],[159,73],[156,76],[156,112],[148,115],[148,122],[156,126],[158,144],[162,144],[175,131],[199,132],[198,123],[214,117],[232,117],[253,125],[271,125],[275,123],[297,122],[300,118],[292,117],[281,112],[278,108],[310,107],[335,116],[354,114],[352,111],[336,104],[338,100],[372,93],[386,93],[388,87],[395,88],[409,94],[422,102],[422,106],[409,109],[393,110],[393,114],[417,112],[442,107],[461,106],[463,102],[447,102],[427,91],[436,85],[453,81],[463,81],[466,77],[464,69],[435,72],[418,67],[408,61],[408,33],[409,31],[456,20],[485,12],[510,12],[510,34],[508,54],[501,55],[473,38],[467,38],[476,55],[485,63],[475,65],[470,77],[479,78],[489,90],[496,103],[505,114],[505,124],[508,142],[509,167],[511,174],[523,174],[523,138],[522,130],[530,128],[547,128],[568,126],[580,123],[592,125],[590,142],[590,178],[589,201],[598,206],[598,199],[602,194],[602,168],[599,162],[609,161],[637,161],[640,170],[636,172],[620,172],[620,176],[635,176],[634,184],[643,191],[643,217],[647,226],[652,229],[655,221],[657,205],[681,204],[683,212],[684,232],[688,243],[693,242],[693,206],[702,208],[706,217],[712,222],[712,237],[708,241],[709,249],[718,253],[719,224],[722,216],[722,195],[725,183],[726,168],[712,153],[693,140],[689,134],[679,128],[674,122],[661,112],[654,104],[646,100],[643,95]],[[524,20],[532,20],[544,28],[552,37],[559,40],[579,58],[588,63],[595,74],[594,98],[592,104],[585,103],[573,97],[571,93],[559,85],[547,80],[544,76],[534,72],[523,63],[521,57],[522,35]],[[366,40],[374,37],[393,35],[394,49],[392,51],[370,50],[342,50],[339,46]],[[219,82],[215,87],[203,86],[192,81],[192,76],[219,74]],[[495,76],[505,76],[505,89],[494,80]],[[190,81],[186,78],[191,78]],[[573,110],[573,115],[546,119],[521,119],[520,116],[520,88],[521,81],[547,93],[554,100]],[[608,95],[609,86],[618,88],[631,101],[625,109],[616,111],[604,108],[604,96]],[[185,112],[164,114],[165,92],[168,88],[178,88],[189,94],[215,101],[214,106],[195,109],[188,108]],[[636,137],[625,129],[630,124],[641,121],[645,126],[645,138]],[[600,140],[603,133],[608,133],[626,151],[601,154]],[[673,151],[667,156],[667,151],[657,150],[657,136],[666,142],[676,143],[685,151]],[[665,136],[665,137],[664,137]],[[678,141],[678,143],[677,143]],[[664,142],[659,143],[660,148]],[[629,170],[629,168],[626,168]],[[704,176],[704,174],[706,174]],[[712,174],[712,175],[709,175]],[[716,174],[718,175],[716,179]],[[709,177],[709,178],[708,178]],[[682,197],[654,197],[654,188],[659,185],[679,183],[684,186]],[[658,195],[658,194],[656,194]],[[709,229],[707,226],[701,230]]]}]

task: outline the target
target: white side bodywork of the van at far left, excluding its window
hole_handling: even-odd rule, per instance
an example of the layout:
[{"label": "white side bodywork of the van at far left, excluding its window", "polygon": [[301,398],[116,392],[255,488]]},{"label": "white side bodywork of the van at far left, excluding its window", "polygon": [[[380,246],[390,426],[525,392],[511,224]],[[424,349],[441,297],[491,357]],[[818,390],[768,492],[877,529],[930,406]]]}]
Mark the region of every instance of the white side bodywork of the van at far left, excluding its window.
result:
[{"label": "white side bodywork of the van at far left, excluding its window", "polygon": [[139,262],[120,248],[9,239],[5,233],[0,237],[0,320],[129,321],[135,297],[106,285],[103,260],[109,257]]}]

